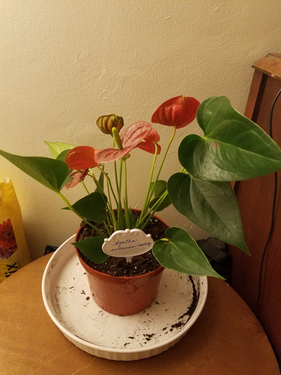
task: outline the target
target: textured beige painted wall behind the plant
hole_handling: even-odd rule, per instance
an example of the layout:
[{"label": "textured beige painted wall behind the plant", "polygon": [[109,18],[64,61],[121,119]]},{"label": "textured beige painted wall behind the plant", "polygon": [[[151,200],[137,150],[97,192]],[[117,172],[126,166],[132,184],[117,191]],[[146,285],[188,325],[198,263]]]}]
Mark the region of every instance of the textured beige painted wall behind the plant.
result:
[{"label": "textured beige painted wall behind the plant", "polygon": [[[43,140],[102,148],[95,125],[117,113],[127,125],[149,121],[164,100],[226,95],[244,111],[251,63],[280,47],[279,0],[1,0],[0,148],[49,156]],[[161,145],[170,128],[155,125]],[[163,178],[179,170],[178,130]],[[141,202],[152,157],[132,152],[129,198]],[[33,259],[74,234],[79,219],[54,193],[1,158],[22,208]],[[78,191],[77,191],[78,190]],[[82,187],[69,191],[71,202]],[[205,236],[173,208],[161,216]]]}]

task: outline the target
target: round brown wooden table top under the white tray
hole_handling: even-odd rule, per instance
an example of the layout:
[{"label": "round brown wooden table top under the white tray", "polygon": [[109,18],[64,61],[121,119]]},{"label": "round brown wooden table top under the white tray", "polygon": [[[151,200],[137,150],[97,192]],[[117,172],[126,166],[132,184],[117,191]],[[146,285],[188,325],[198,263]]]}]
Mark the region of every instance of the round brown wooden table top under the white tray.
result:
[{"label": "round brown wooden table top under the white tray", "polygon": [[208,278],[205,307],[175,346],[138,361],[111,361],[73,345],[55,326],[41,295],[51,254],[0,284],[1,375],[278,375],[277,360],[254,314],[224,281]]}]

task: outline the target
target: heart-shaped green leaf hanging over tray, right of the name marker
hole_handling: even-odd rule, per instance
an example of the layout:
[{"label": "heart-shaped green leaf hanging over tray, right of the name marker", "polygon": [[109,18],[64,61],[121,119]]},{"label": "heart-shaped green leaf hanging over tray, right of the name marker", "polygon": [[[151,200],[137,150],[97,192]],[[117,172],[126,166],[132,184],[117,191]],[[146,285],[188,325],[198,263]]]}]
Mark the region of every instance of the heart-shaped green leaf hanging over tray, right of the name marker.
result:
[{"label": "heart-shaped green leaf hanging over tray, right of the name marker", "polygon": [[223,279],[209,264],[193,238],[182,228],[166,229],[167,239],[154,243],[152,253],[158,262],[171,270],[194,276],[214,276]]}]

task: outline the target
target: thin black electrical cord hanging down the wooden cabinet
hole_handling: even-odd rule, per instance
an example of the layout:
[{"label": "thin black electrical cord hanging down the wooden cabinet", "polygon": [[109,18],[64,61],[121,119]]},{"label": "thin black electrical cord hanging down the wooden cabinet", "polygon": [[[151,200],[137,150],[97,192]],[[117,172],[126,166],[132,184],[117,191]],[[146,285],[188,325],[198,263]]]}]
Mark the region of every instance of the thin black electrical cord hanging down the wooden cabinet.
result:
[{"label": "thin black electrical cord hanging down the wooden cabinet", "polygon": [[[270,116],[269,116],[269,135],[271,136],[271,138],[273,138],[273,136],[272,136],[272,114],[273,114],[275,103],[277,102],[277,99],[279,98],[280,94],[281,94],[281,89],[279,90],[278,94],[276,95],[276,97],[275,97],[275,99],[274,99],[274,101],[273,101],[273,103],[271,105]],[[255,304],[255,306],[253,308],[253,312],[256,310],[257,305],[259,304],[260,293],[262,291],[263,263],[264,263],[264,260],[265,260],[266,250],[268,248],[268,244],[269,244],[269,241],[271,239],[272,232],[273,232],[273,227],[274,227],[276,196],[277,196],[277,172],[274,173],[274,193],[273,193],[272,211],[271,211],[271,226],[270,226],[270,229],[269,229],[268,239],[266,240],[265,247],[263,248],[262,259],[260,261],[259,290],[258,290],[256,304]]]}]

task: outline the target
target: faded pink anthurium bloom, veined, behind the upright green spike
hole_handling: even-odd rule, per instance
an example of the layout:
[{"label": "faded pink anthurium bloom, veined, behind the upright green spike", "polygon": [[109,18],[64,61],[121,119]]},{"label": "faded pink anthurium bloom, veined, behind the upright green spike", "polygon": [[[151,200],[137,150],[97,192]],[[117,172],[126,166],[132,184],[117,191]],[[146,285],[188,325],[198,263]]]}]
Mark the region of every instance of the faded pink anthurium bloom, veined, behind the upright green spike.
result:
[{"label": "faded pink anthurium bloom, veined, behind the upright green spike", "polygon": [[152,126],[146,121],[139,121],[127,127],[127,129],[122,134],[120,134],[123,149],[117,150],[117,148],[109,147],[105,148],[105,150],[100,150],[95,155],[96,160],[99,163],[102,163],[112,162],[114,160],[120,159],[121,157],[128,154],[133,148],[138,147],[143,139],[145,139],[145,137],[149,134],[151,129]]}]

